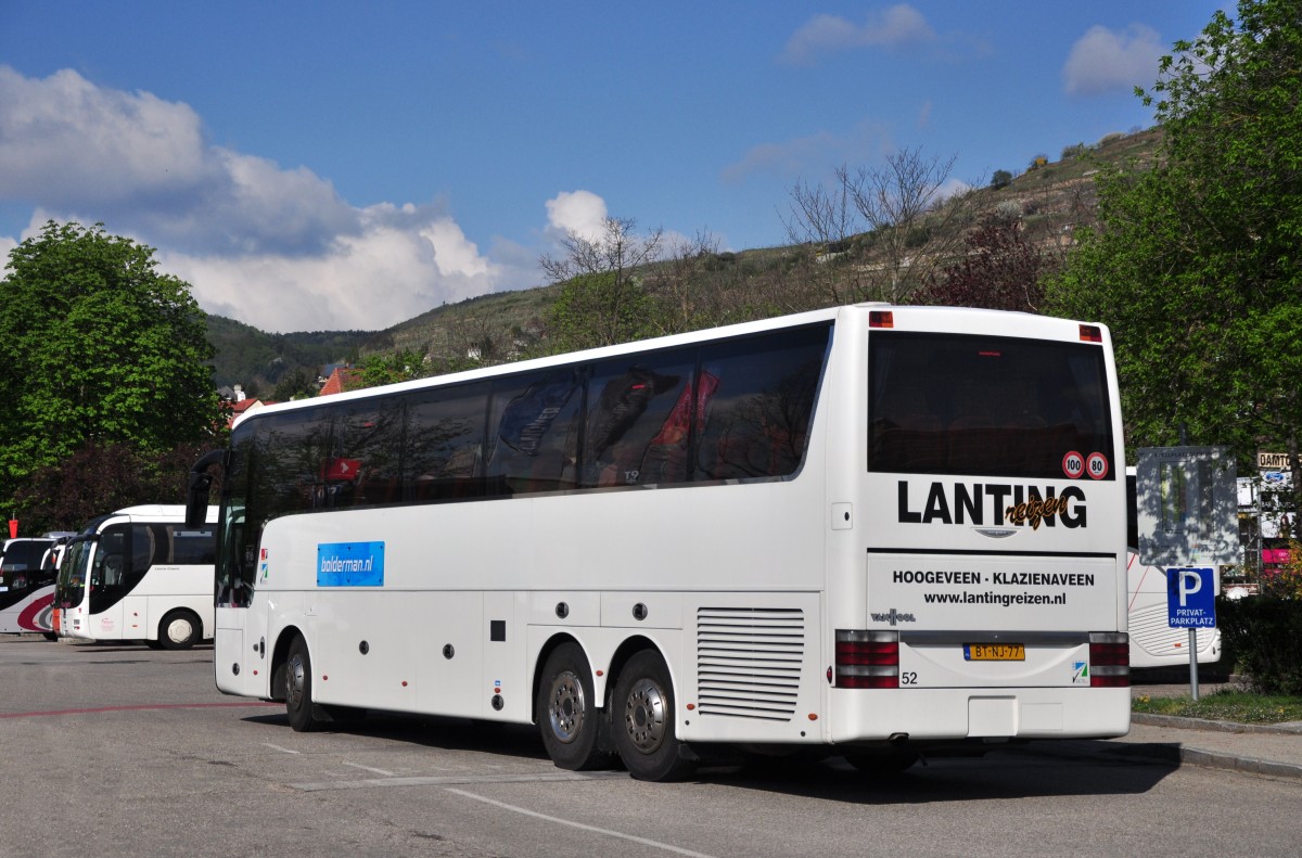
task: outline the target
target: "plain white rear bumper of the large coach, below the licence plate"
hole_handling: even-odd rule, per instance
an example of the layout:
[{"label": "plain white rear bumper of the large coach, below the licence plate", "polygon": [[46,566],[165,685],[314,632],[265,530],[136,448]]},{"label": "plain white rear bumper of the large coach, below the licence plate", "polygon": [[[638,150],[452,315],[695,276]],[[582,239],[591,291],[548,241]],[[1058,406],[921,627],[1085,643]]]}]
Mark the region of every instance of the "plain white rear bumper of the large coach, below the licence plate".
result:
[{"label": "plain white rear bumper of the large coach, below the licence plate", "polygon": [[829,741],[1115,738],[1130,689],[832,689]]}]

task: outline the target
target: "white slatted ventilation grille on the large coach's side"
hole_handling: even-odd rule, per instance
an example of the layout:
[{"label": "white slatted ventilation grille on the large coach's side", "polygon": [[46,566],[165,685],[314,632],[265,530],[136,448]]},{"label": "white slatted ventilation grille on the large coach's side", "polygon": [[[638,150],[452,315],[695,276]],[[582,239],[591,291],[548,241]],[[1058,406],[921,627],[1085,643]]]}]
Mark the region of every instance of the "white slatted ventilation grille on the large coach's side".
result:
[{"label": "white slatted ventilation grille on the large coach's side", "polygon": [[805,656],[805,616],[786,608],[697,611],[697,710],[789,721]]}]

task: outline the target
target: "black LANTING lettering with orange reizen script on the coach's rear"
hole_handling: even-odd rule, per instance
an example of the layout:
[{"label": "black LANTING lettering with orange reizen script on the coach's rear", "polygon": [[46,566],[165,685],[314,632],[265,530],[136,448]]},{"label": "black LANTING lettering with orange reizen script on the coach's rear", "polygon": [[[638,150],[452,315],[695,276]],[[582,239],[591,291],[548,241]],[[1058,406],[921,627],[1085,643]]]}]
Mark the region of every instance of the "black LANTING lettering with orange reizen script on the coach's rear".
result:
[{"label": "black LANTING lettering with orange reizen script on the coach's rear", "polygon": [[1052,487],[1013,486],[1012,483],[945,483],[935,482],[927,491],[922,508],[913,506],[909,483],[900,480],[900,521],[930,525],[1040,525],[1085,527],[1085,492],[1068,486],[1061,495]]}]

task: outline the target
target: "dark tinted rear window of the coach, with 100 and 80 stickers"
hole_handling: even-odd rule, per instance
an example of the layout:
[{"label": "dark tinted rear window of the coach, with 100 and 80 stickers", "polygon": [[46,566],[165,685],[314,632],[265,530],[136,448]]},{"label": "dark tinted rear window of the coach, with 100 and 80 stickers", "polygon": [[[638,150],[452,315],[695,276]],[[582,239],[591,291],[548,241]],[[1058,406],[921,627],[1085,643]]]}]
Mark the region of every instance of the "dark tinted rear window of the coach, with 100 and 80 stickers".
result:
[{"label": "dark tinted rear window of the coach, with 100 and 80 stickers", "polygon": [[1103,349],[874,332],[868,470],[1115,479]]}]

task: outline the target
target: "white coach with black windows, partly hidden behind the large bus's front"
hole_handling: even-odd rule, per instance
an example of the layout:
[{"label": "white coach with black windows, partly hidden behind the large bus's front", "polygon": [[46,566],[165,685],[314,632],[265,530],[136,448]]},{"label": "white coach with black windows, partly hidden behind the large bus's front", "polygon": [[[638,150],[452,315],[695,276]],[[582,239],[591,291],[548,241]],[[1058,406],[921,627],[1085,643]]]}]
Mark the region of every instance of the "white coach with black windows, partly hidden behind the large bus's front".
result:
[{"label": "white coach with black windows, partly hidden behind the large bus's front", "polygon": [[216,506],[185,523],[185,506],[128,506],[92,519],[64,551],[55,631],[87,641],[145,641],[184,650],[212,638]]}]

